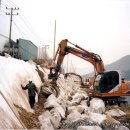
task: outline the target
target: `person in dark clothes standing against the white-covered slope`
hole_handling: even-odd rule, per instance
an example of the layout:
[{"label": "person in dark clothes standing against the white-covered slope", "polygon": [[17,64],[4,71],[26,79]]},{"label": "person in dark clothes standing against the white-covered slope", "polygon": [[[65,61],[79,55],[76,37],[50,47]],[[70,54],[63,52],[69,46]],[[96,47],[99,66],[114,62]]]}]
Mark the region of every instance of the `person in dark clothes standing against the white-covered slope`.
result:
[{"label": "person in dark clothes standing against the white-covered slope", "polygon": [[32,81],[29,81],[29,83],[25,87],[23,87],[22,85],[21,85],[21,87],[23,90],[28,89],[29,104],[30,104],[31,108],[33,109],[34,105],[35,105],[36,93],[38,94],[36,85]]}]

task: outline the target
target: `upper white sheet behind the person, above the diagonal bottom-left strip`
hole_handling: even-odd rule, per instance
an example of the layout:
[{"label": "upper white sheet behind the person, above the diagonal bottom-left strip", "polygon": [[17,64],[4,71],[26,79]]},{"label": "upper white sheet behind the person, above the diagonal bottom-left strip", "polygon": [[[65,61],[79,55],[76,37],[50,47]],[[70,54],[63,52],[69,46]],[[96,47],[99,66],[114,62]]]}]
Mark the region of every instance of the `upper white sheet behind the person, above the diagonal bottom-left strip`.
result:
[{"label": "upper white sheet behind the person, above the diagonal bottom-left strip", "polygon": [[21,89],[32,80],[39,88],[40,77],[36,67],[23,60],[5,58],[0,56],[0,91],[10,102],[32,111],[28,103],[27,91]]}]

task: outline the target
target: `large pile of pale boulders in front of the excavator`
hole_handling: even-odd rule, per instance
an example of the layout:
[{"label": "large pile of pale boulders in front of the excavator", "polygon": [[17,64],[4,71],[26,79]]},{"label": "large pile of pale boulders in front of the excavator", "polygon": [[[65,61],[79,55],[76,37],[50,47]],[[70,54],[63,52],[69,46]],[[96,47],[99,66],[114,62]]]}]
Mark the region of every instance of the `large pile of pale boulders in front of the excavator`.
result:
[{"label": "large pile of pale boulders in front of the excavator", "polygon": [[[41,129],[128,129],[112,118],[113,111],[105,112],[105,105],[101,99],[93,98],[88,107],[89,97],[81,89],[78,77],[74,75],[65,79],[59,77],[56,86],[49,80],[45,82],[46,85],[43,85],[42,89],[48,97],[44,103],[46,111],[38,118],[42,124]],[[58,88],[58,95],[55,92],[57,90],[54,90],[55,88]],[[125,115],[121,110],[117,111],[119,116]],[[118,114],[116,113],[116,115]]]}]

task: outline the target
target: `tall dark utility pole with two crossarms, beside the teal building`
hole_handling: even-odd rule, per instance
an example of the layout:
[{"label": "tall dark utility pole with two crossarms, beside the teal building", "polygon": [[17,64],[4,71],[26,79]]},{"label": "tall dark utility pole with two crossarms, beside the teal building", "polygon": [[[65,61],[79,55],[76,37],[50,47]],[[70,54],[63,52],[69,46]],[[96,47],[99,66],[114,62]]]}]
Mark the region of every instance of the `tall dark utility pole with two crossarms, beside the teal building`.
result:
[{"label": "tall dark utility pole with two crossarms, beside the teal building", "polygon": [[6,13],[6,15],[10,15],[10,30],[9,30],[9,54],[10,54],[10,47],[11,47],[11,32],[12,32],[12,21],[13,21],[13,15],[18,15],[18,13],[13,14],[14,10],[19,10],[19,8],[7,8],[6,9],[10,10],[10,13]]}]

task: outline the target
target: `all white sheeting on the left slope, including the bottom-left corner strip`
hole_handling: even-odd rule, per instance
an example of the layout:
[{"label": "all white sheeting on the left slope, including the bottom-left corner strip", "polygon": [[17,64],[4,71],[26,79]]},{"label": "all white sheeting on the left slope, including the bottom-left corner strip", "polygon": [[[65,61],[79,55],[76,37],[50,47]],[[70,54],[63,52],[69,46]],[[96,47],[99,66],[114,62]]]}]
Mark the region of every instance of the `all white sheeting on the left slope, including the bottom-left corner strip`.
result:
[{"label": "all white sheeting on the left slope, including the bottom-left corner strip", "polygon": [[[0,91],[17,115],[18,112],[14,104],[33,112],[28,102],[27,91],[22,90],[21,84],[25,86],[29,80],[32,80],[38,88],[40,87],[41,79],[35,69],[35,65],[23,60],[0,56]],[[2,98],[0,97],[0,128],[23,128]]]}]

